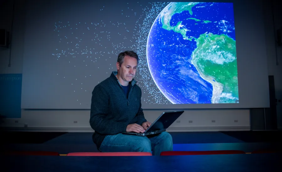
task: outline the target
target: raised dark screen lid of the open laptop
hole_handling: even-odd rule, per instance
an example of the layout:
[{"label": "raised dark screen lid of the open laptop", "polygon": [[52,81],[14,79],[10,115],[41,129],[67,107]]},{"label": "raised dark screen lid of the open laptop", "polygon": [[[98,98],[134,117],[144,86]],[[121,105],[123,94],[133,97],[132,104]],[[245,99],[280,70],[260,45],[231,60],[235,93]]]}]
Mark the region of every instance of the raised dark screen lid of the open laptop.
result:
[{"label": "raised dark screen lid of the open laptop", "polygon": [[184,111],[163,112],[144,133],[167,129],[183,112]]}]

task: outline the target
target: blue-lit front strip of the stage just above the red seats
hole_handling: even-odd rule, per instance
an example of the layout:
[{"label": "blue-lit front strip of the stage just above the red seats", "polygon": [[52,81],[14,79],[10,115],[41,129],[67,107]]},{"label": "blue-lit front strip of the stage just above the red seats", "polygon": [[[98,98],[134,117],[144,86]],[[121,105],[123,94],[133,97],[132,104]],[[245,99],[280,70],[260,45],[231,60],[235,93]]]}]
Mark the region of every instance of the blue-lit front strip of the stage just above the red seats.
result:
[{"label": "blue-lit front strip of the stage just above the red seats", "polygon": [[[4,149],[14,151],[55,151],[59,154],[68,154],[70,152],[99,152],[95,144],[11,144],[5,146]],[[246,153],[250,153],[254,150],[282,150],[282,148],[279,143],[198,143],[174,144],[173,150],[243,150]]]}]

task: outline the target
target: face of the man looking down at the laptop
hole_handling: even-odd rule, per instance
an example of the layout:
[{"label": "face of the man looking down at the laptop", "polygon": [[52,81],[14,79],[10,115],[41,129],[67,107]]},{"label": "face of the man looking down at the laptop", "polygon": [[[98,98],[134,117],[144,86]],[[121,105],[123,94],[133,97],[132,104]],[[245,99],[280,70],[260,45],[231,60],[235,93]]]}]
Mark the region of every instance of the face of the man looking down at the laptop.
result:
[{"label": "face of the man looking down at the laptop", "polygon": [[134,57],[125,56],[123,63],[119,66],[117,62],[118,69],[118,81],[123,86],[127,86],[128,82],[132,81],[135,73],[137,71],[137,59]]}]

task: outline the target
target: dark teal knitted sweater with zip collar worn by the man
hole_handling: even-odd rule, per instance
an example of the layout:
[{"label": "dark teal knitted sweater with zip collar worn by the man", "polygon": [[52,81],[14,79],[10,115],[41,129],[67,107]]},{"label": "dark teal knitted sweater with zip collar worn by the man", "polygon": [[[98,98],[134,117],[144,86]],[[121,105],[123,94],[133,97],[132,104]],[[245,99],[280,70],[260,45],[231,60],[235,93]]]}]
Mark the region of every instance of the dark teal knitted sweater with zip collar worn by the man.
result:
[{"label": "dark teal knitted sweater with zip collar worn by the man", "polygon": [[113,71],[111,76],[92,91],[90,125],[95,130],[92,139],[100,148],[106,135],[126,132],[129,124],[142,125],[147,120],[141,108],[141,89],[133,79],[129,82],[128,98]]}]

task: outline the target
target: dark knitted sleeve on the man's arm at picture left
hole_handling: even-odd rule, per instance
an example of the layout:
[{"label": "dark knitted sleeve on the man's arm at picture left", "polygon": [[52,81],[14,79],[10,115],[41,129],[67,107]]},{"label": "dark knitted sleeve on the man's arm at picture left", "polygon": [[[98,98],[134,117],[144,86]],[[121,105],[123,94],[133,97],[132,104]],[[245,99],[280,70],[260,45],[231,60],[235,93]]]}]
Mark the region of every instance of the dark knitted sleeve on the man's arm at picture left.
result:
[{"label": "dark knitted sleeve on the man's arm at picture left", "polygon": [[109,95],[100,85],[92,91],[90,125],[91,128],[103,135],[115,135],[126,132],[128,124],[106,119],[108,115]]}]

